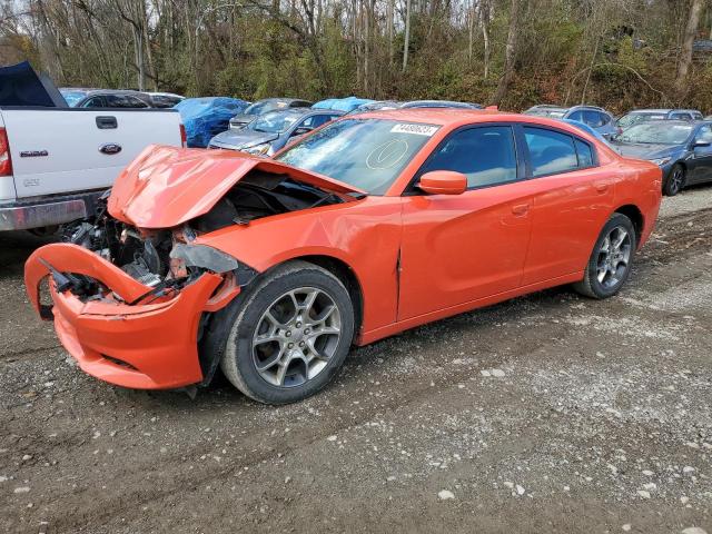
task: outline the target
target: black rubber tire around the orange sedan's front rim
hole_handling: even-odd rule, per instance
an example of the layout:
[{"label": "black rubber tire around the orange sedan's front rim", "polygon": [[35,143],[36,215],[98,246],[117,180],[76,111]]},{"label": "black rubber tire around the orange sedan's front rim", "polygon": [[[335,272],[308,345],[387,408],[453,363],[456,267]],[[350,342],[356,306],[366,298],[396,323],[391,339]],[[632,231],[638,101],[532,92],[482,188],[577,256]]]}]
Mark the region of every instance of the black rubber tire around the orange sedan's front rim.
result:
[{"label": "black rubber tire around the orange sedan's front rim", "polygon": [[[267,310],[275,299],[297,288],[316,288],[336,305],[340,335],[332,347],[326,366],[312,378],[297,385],[275,385],[258,370],[254,339]],[[248,397],[265,404],[289,404],[303,400],[334,379],[348,355],[354,338],[354,306],[344,284],[328,270],[307,263],[290,261],[256,280],[255,287],[241,300],[227,339],[220,367],[225,376]],[[256,346],[256,344],[255,344]]]}]

